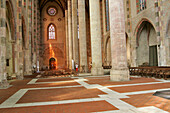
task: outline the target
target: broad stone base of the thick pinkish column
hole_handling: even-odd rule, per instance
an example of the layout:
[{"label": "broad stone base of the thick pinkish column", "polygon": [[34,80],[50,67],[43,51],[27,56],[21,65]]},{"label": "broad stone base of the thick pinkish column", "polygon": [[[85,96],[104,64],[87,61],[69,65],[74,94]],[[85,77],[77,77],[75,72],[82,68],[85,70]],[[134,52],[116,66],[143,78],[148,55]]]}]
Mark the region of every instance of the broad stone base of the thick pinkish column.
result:
[{"label": "broad stone base of the thick pinkish column", "polygon": [[111,81],[129,81],[129,70],[114,70],[110,71],[110,79]]}]

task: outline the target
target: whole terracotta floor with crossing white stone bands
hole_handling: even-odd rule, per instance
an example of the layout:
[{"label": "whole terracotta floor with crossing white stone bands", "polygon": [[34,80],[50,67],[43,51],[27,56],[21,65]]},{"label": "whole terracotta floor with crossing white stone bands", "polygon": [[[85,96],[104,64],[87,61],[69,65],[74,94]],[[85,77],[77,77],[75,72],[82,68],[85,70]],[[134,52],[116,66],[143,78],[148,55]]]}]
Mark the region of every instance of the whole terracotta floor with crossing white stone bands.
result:
[{"label": "whole terracotta floor with crossing white stone bands", "polygon": [[170,81],[109,76],[26,78],[0,89],[0,113],[170,113],[170,100],[153,96]]}]

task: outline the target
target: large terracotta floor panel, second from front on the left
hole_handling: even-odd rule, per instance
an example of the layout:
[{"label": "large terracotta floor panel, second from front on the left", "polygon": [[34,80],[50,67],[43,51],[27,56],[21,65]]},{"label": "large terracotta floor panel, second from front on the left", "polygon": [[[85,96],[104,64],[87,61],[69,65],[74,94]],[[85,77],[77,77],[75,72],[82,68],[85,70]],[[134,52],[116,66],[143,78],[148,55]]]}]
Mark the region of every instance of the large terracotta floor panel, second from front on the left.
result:
[{"label": "large terracotta floor panel, second from front on the left", "polygon": [[29,90],[18,103],[95,98],[101,94],[105,93],[98,89],[86,89],[84,87]]}]

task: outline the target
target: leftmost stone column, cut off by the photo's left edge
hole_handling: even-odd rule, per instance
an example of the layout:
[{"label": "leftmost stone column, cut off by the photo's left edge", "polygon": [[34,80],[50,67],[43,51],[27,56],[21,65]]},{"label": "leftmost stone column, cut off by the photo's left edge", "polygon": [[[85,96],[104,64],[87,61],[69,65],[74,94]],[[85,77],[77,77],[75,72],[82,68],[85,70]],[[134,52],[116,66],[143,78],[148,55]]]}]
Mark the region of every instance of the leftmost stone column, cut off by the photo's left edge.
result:
[{"label": "leftmost stone column, cut off by the photo's left edge", "polygon": [[0,87],[6,88],[6,0],[0,2],[0,23]]}]

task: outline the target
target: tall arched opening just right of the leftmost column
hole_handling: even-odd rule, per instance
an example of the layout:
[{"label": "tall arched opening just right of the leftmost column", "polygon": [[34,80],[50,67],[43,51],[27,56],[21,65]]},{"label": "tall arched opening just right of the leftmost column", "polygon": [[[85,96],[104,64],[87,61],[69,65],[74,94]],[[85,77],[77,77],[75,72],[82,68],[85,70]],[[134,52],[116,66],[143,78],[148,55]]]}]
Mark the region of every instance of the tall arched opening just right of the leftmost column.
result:
[{"label": "tall arched opening just right of the leftmost column", "polygon": [[14,12],[10,0],[6,1],[6,69],[8,76],[15,73],[15,23]]}]

